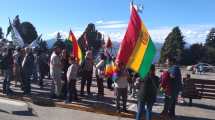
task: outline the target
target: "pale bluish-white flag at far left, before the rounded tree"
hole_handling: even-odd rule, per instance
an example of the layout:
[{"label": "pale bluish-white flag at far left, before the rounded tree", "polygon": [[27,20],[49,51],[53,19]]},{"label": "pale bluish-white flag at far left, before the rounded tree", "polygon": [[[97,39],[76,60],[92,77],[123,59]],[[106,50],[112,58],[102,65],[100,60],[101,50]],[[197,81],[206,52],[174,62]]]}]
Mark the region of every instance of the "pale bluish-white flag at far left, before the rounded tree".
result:
[{"label": "pale bluish-white flag at far left, before the rounded tree", "polygon": [[19,34],[19,32],[17,31],[16,27],[11,24],[11,21],[9,19],[9,23],[12,27],[12,40],[15,42],[15,44],[17,44],[20,47],[24,47],[24,41],[21,37],[21,35]]}]

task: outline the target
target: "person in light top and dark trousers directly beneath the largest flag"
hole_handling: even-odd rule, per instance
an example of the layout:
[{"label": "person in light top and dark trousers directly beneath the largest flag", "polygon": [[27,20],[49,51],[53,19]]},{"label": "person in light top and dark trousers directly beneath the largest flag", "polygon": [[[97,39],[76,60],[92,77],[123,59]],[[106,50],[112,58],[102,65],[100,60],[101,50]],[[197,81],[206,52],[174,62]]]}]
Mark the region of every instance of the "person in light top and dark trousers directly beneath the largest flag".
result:
[{"label": "person in light top and dark trousers directly beneath the largest flag", "polygon": [[[116,92],[116,109],[117,112],[121,112],[120,108],[120,101],[123,103],[123,112],[127,111],[126,104],[127,104],[127,97],[128,97],[128,71],[125,68],[125,65],[119,63],[117,65],[117,79],[115,80],[115,92]],[[121,99],[122,98],[122,99]]]}]

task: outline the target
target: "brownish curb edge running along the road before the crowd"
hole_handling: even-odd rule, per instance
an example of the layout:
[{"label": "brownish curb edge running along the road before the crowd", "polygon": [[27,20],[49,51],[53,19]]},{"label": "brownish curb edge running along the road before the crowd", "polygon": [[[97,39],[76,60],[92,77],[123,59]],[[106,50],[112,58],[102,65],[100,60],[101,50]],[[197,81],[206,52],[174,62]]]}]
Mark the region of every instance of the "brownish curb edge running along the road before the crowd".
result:
[{"label": "brownish curb edge running along the road before the crowd", "polygon": [[[0,90],[0,92],[1,92],[1,90]],[[129,110],[127,113],[124,113],[124,112],[117,113],[115,111],[111,111],[111,110],[105,109],[104,107],[97,106],[97,105],[92,105],[91,107],[87,107],[87,106],[81,105],[79,103],[65,104],[62,101],[52,100],[49,98],[38,97],[38,96],[31,96],[31,97],[24,97],[24,96],[17,96],[17,95],[6,96],[6,95],[0,93],[0,97],[30,102],[30,103],[33,103],[33,104],[36,104],[39,106],[60,107],[60,108],[67,108],[67,109],[92,112],[92,113],[103,114],[103,115],[111,115],[111,116],[123,117],[123,118],[134,119],[135,114],[136,114],[134,111],[129,111]],[[153,120],[158,120],[158,119],[159,119],[158,116],[153,116]]]}]

